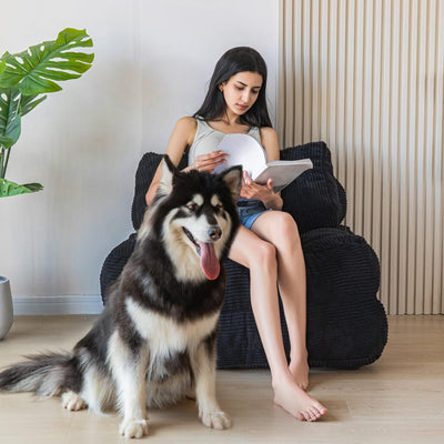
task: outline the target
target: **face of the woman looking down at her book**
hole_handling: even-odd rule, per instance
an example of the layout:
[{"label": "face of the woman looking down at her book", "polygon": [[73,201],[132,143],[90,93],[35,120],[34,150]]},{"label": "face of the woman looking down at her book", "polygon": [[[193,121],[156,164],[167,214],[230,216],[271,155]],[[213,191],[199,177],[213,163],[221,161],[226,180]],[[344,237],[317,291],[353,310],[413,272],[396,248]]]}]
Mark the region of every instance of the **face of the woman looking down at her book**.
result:
[{"label": "face of the woman looking down at her book", "polygon": [[262,75],[258,72],[238,72],[219,87],[225,99],[228,111],[244,114],[258,100],[262,88]]}]

